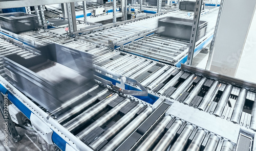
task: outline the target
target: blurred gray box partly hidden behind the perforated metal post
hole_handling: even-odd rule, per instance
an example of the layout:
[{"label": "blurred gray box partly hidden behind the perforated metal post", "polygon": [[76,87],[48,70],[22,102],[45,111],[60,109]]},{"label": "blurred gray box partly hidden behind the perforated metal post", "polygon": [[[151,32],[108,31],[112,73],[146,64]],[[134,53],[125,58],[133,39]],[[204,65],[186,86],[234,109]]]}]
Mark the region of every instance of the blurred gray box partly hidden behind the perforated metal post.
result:
[{"label": "blurred gray box partly hidden behind the perforated metal post", "polygon": [[[193,20],[176,17],[163,17],[158,20],[157,33],[164,37],[181,40],[190,40]],[[206,21],[200,21],[197,41],[205,36],[207,28]]]}]

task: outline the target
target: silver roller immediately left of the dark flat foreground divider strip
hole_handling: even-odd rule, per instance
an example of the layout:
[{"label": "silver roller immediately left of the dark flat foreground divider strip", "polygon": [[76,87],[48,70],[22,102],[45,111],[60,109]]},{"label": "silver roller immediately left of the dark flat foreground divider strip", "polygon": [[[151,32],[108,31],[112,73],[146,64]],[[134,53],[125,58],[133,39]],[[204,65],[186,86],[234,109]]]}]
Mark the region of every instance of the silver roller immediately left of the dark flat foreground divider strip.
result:
[{"label": "silver roller immediately left of the dark flat foreground divider strip", "polygon": [[147,107],[141,112],[130,124],[128,124],[121,132],[119,132],[108,144],[101,150],[115,150],[127,137],[129,137],[139,125],[153,112],[151,107]]}]

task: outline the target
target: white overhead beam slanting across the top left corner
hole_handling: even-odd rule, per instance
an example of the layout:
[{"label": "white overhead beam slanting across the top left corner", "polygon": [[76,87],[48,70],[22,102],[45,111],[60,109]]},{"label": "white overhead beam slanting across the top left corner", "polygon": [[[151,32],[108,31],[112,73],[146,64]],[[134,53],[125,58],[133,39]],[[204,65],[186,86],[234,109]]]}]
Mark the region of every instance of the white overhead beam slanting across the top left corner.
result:
[{"label": "white overhead beam slanting across the top left corner", "polygon": [[[86,0],[89,1],[89,0]],[[45,0],[45,1],[34,1],[34,0],[20,0],[20,1],[0,1],[0,9],[5,8],[17,8],[17,7],[28,7],[28,6],[40,6],[50,4],[61,4],[61,3],[72,3],[81,2],[79,0]]]}]

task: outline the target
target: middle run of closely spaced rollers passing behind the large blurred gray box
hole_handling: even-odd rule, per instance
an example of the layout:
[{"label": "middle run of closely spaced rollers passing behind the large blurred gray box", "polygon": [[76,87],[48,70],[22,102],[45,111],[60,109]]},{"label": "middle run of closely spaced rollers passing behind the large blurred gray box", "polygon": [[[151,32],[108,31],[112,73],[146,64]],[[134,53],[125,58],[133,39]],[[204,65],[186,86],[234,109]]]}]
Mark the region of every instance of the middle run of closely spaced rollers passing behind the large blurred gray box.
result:
[{"label": "middle run of closely spaced rollers passing behind the large blurred gray box", "polygon": [[[67,47],[88,52],[94,55],[93,63],[106,69],[106,72],[108,74],[118,73],[120,75],[135,79],[139,82],[143,82],[143,80],[151,77],[147,80],[148,83],[152,79],[155,80],[160,77],[160,75],[167,75],[174,70],[174,68],[169,69],[170,66],[162,63],[143,59],[141,57],[119,51],[112,51],[111,49],[103,46],[95,45],[73,38],[68,38],[66,36],[60,36],[58,34],[50,33],[43,30],[23,33],[19,36],[22,36],[22,38],[20,39],[27,39],[25,41],[30,41],[30,43],[34,43],[37,45],[45,45],[56,42],[58,44],[63,44]],[[146,84],[146,82],[144,83]],[[157,84],[158,82],[155,83]]]}]

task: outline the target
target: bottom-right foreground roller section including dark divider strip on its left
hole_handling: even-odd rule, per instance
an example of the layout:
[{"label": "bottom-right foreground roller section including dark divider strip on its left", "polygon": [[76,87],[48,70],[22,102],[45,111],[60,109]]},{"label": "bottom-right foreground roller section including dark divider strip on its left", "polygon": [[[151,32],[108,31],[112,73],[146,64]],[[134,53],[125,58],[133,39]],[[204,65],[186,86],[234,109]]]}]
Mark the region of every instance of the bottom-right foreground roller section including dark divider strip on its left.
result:
[{"label": "bottom-right foreground roller section including dark divider strip on its left", "polygon": [[[130,149],[137,151],[199,151],[233,150],[236,148],[236,142],[209,132],[193,123],[169,115],[167,113],[170,110],[168,107],[169,105],[167,104],[159,106],[116,151],[128,151]],[[237,141],[237,139],[234,141]],[[251,140],[252,138],[244,139],[244,144],[240,143],[238,146],[249,149],[252,144]],[[114,148],[112,148],[111,144],[106,144],[102,150],[114,150]]]}]

